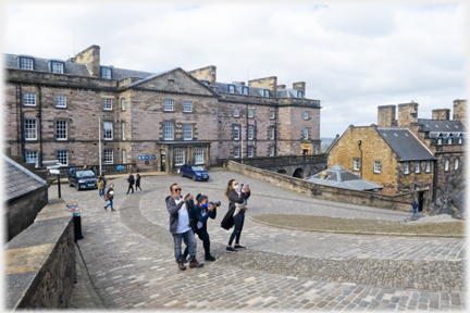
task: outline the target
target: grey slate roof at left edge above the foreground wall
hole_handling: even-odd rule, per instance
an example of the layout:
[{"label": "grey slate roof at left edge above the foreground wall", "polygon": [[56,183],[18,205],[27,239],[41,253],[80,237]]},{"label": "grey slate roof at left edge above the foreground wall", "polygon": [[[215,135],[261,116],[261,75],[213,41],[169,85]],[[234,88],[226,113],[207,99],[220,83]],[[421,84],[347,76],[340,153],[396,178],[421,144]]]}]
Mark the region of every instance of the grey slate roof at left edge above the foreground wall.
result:
[{"label": "grey slate roof at left edge above the foreground wall", "polygon": [[4,201],[20,198],[28,192],[47,187],[46,180],[3,155]]}]

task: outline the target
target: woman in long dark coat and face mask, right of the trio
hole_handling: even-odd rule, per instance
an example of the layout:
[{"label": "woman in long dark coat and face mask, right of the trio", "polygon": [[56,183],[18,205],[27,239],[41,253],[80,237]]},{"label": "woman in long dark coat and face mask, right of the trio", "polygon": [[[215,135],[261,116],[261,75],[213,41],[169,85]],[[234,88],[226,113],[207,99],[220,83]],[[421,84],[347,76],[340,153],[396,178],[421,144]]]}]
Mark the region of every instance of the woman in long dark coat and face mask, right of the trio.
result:
[{"label": "woman in long dark coat and face mask, right of the trio", "polygon": [[[225,249],[227,252],[237,252],[235,249],[246,249],[246,247],[239,245],[239,238],[245,223],[245,211],[247,210],[246,199],[249,197],[250,189],[248,188],[248,185],[240,188],[235,179],[228,180],[227,187],[225,188],[225,198],[230,200],[228,212],[222,220],[221,226],[227,230],[234,225],[235,227]],[[232,247],[234,238],[235,249]]]}]

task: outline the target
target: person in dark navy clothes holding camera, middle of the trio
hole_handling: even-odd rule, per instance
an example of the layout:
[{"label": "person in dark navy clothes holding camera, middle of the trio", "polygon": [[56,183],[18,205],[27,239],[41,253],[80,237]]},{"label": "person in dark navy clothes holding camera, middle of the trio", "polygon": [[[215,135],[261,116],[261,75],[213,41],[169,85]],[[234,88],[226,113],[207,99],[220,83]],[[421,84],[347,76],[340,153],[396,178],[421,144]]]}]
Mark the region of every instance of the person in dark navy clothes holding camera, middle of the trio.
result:
[{"label": "person in dark navy clothes holding camera, middle of the trio", "polygon": [[[199,239],[202,240],[202,246],[205,248],[206,261],[215,261],[215,258],[210,254],[210,238],[209,233],[207,231],[207,221],[208,218],[215,218],[217,215],[217,205],[208,204],[208,197],[198,193],[196,196],[197,204],[190,210],[191,217],[191,227],[193,231],[198,235]],[[188,247],[186,247],[183,258],[186,260],[188,254]]]}]

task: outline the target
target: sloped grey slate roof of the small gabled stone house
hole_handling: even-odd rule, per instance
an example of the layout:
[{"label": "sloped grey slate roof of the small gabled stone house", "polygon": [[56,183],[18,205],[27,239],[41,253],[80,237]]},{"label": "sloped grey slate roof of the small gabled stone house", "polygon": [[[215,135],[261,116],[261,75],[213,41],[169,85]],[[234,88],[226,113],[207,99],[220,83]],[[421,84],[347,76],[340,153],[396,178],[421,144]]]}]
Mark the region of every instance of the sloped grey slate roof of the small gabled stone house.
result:
[{"label": "sloped grey slate roof of the small gabled stone house", "polygon": [[406,128],[376,128],[399,161],[436,160],[433,154]]}]

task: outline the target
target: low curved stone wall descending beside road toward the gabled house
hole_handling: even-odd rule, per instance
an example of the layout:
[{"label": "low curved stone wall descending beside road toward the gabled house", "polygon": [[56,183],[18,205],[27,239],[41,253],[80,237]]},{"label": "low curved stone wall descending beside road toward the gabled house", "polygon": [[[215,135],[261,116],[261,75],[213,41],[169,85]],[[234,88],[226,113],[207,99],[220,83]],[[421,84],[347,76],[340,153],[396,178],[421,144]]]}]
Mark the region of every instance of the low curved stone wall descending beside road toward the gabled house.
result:
[{"label": "low curved stone wall descending beside road toward the gabled house", "polygon": [[411,201],[415,199],[415,191],[395,196],[357,191],[332,186],[317,185],[304,179],[288,177],[286,175],[269,172],[265,170],[248,166],[237,162],[228,161],[230,171],[261,179],[284,189],[310,196],[313,199],[329,200],[334,202],[352,203],[372,208],[388,209],[403,212],[411,212]]}]

